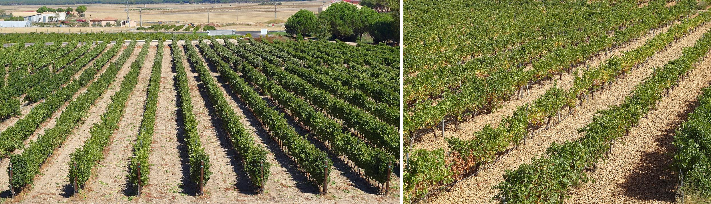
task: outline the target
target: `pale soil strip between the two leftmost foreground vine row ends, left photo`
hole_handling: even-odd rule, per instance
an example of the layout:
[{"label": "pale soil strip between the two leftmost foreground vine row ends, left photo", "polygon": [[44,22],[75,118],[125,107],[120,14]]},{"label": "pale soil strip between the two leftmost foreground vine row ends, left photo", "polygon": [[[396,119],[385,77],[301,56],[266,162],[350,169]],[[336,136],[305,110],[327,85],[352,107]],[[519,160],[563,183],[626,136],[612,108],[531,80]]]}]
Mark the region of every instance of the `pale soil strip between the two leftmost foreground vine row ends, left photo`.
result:
[{"label": "pale soil strip between the two leftmost foreground vine row ends, left photo", "polygon": [[[134,48],[134,53],[138,53],[141,45]],[[23,197],[25,203],[41,203],[47,202],[48,199],[56,202],[64,202],[68,200],[70,191],[69,173],[70,154],[77,148],[84,146],[84,142],[89,139],[90,129],[95,123],[101,121],[101,115],[106,111],[106,107],[111,102],[111,96],[118,92],[121,82],[129,71],[129,67],[135,61],[137,55],[132,55],[123,65],[114,82],[109,86],[109,89],[92,104],[87,117],[81,124],[75,127],[73,134],[67,136],[63,144],[55,151],[55,154],[47,159],[47,162],[42,165],[40,175],[35,178],[33,188],[31,190],[23,190],[26,195]]]}]

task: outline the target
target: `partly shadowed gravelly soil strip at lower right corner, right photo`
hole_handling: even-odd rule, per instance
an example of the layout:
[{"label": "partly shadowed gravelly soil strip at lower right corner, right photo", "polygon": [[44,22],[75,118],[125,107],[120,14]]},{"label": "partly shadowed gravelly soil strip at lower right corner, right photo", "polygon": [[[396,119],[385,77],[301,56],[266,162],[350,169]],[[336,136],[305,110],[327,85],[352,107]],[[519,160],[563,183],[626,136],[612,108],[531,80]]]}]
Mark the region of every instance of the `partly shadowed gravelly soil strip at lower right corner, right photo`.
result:
[{"label": "partly shadowed gravelly soil strip at lower right corner, right photo", "polygon": [[[673,203],[678,173],[669,169],[676,149],[674,130],[697,107],[701,89],[711,84],[711,60],[697,66],[651,111],[639,127],[615,144],[611,159],[589,173],[595,182],[572,190],[568,203]],[[604,196],[603,196],[604,195]]]}]

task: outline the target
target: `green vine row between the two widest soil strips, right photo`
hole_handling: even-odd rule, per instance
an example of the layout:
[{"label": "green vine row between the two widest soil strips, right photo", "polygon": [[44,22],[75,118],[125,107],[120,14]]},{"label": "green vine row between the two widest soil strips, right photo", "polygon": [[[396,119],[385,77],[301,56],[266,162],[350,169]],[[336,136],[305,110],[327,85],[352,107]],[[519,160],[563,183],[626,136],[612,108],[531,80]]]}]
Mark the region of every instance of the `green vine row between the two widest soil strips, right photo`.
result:
[{"label": "green vine row between the two widest soil strips, right photo", "polygon": [[678,86],[678,80],[695,69],[711,49],[711,33],[707,31],[683,55],[656,69],[637,85],[624,102],[599,110],[592,122],[579,129],[584,136],[564,144],[552,144],[547,154],[535,157],[514,171],[507,171],[506,181],[499,183],[500,197],[510,203],[561,203],[567,191],[590,180],[585,169],[604,161],[614,141],[626,136],[639,119],[656,109],[665,90]]}]

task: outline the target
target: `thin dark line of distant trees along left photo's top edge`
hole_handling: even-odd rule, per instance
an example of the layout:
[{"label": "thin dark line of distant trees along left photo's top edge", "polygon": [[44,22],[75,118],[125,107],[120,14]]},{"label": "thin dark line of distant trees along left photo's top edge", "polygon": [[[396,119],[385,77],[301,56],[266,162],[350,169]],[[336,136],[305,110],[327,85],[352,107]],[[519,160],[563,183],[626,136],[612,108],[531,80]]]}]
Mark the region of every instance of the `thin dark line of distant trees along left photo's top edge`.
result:
[{"label": "thin dark line of distant trees along left photo's top edge", "polygon": [[[130,0],[129,4],[228,4],[283,0]],[[295,0],[310,1],[310,0]],[[0,0],[1,5],[126,4],[126,0]]]}]

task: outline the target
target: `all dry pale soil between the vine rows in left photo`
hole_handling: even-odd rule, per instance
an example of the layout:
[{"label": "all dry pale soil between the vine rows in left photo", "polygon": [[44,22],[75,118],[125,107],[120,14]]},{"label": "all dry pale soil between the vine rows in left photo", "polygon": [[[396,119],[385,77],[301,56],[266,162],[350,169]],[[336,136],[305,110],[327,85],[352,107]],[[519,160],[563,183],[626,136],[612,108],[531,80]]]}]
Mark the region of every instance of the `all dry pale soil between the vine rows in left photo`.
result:
[{"label": "all dry pale soil between the vine rows in left photo", "polygon": [[[197,43],[197,42],[193,42]],[[184,43],[181,42],[181,54],[184,55]],[[119,89],[124,75],[128,73],[129,65],[137,58],[137,53],[144,43],[139,43],[134,48],[127,63],[119,70],[117,80],[90,108],[90,114],[68,136],[67,141],[50,156],[48,162],[43,164],[41,174],[38,175],[33,188],[25,189],[18,198],[6,198],[8,178],[6,173],[0,173],[0,192],[3,197],[0,202],[11,203],[397,203],[399,188],[392,188],[389,198],[380,195],[378,186],[368,183],[348,163],[331,156],[334,161],[331,169],[328,195],[319,194],[319,188],[306,181],[303,173],[297,170],[296,163],[289,159],[287,154],[280,149],[276,141],[272,140],[264,127],[258,122],[247,105],[240,100],[226,84],[223,77],[215,70],[212,64],[207,64],[213,77],[220,85],[223,95],[229,104],[240,115],[242,124],[255,136],[257,144],[265,146],[269,154],[267,159],[272,163],[269,181],[265,183],[264,195],[255,193],[249,179],[242,171],[242,161],[228,140],[221,120],[217,117],[212,102],[208,99],[207,92],[200,77],[191,63],[183,57],[183,63],[188,73],[188,84],[191,87],[194,112],[198,119],[198,131],[202,145],[210,155],[213,175],[205,185],[205,195],[196,196],[195,184],[188,177],[187,149],[185,136],[182,129],[183,121],[177,114],[176,89],[173,76],[175,68],[171,65],[171,48],[169,43],[158,45],[151,43],[149,55],[140,70],[139,83],[127,101],[126,114],[119,122],[119,128],[112,135],[105,159],[93,169],[92,178],[87,182],[87,188],[77,195],[71,195],[73,187],[68,178],[69,155],[76,148],[81,147],[90,136],[89,129],[100,120],[100,115],[110,102],[110,97]],[[115,45],[114,45],[115,46]],[[146,103],[146,90],[150,78],[151,65],[156,57],[156,49],[164,49],[161,67],[161,88],[158,101],[158,115],[156,116],[156,129],[154,141],[151,144],[151,174],[149,185],[144,186],[141,197],[129,186],[127,174],[129,173],[128,161],[132,156],[132,145],[136,141],[141,119],[143,119],[144,105]],[[120,55],[125,49],[119,51]],[[115,58],[113,59],[115,60]],[[204,60],[204,58],[203,58]],[[106,67],[105,67],[106,68]],[[83,92],[85,90],[80,90]],[[74,97],[77,97],[75,95]],[[262,96],[264,100],[274,106],[269,97]],[[277,108],[278,109],[278,108]],[[282,111],[281,109],[279,109]],[[55,117],[63,111],[55,112],[55,116],[43,124],[36,134],[33,134],[27,143],[37,138],[45,127],[53,127]],[[299,134],[308,134],[296,123],[289,119],[290,124]],[[6,124],[9,125],[9,124]],[[313,140],[312,140],[313,141]],[[324,146],[314,141],[317,147]],[[21,153],[21,150],[14,152]],[[6,168],[9,159],[0,161],[0,168]],[[392,176],[391,186],[398,186],[400,178]]]}]

